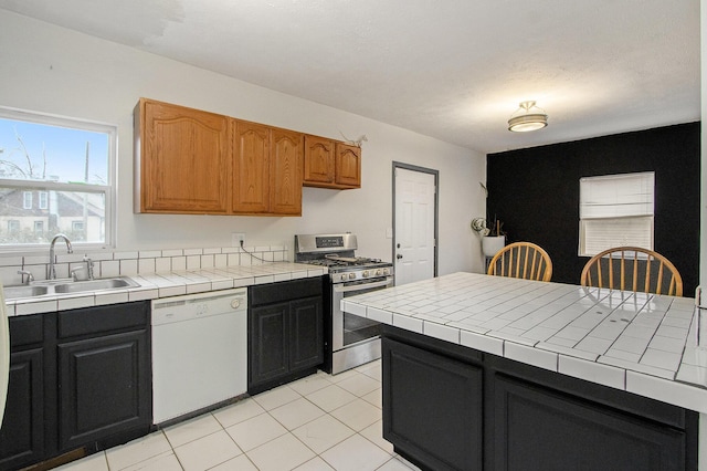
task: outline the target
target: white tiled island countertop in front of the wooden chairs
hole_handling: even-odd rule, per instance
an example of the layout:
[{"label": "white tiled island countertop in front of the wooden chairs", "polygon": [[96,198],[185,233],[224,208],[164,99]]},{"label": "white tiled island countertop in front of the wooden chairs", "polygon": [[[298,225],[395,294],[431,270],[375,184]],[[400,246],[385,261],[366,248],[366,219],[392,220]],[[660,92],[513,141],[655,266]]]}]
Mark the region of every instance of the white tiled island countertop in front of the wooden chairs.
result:
[{"label": "white tiled island countertop in front of the wooden chairs", "polygon": [[707,412],[707,347],[697,347],[689,297],[454,273],[346,297],[341,308]]}]

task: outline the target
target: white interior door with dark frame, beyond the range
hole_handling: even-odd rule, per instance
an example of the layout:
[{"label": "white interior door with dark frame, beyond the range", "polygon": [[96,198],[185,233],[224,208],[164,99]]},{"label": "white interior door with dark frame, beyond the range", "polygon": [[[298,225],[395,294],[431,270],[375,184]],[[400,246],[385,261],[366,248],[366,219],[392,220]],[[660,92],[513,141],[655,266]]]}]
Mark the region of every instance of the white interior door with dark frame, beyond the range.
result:
[{"label": "white interior door with dark frame, beyond the range", "polygon": [[395,168],[395,285],[435,274],[436,175]]}]

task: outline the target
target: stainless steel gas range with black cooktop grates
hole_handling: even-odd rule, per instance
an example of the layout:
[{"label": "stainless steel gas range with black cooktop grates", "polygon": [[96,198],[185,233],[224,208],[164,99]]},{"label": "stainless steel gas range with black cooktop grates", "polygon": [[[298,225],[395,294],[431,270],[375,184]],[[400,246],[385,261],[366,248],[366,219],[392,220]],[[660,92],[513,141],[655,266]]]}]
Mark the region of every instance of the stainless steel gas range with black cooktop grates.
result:
[{"label": "stainless steel gas range with black cooktop grates", "polygon": [[[380,324],[341,312],[341,300],[393,285],[393,265],[356,257],[355,234],[295,236],[295,262],[326,266],[325,365],[336,375],[380,358]],[[325,286],[326,287],[326,286]]]}]

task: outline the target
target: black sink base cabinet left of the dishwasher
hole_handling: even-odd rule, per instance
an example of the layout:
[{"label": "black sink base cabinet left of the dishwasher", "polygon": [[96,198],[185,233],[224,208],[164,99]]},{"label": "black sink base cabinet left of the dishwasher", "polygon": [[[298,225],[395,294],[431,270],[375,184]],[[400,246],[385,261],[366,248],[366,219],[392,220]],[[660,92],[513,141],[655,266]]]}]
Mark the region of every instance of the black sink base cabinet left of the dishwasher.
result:
[{"label": "black sink base cabinet left of the dishwasher", "polygon": [[0,470],[149,432],[149,302],[10,318]]}]

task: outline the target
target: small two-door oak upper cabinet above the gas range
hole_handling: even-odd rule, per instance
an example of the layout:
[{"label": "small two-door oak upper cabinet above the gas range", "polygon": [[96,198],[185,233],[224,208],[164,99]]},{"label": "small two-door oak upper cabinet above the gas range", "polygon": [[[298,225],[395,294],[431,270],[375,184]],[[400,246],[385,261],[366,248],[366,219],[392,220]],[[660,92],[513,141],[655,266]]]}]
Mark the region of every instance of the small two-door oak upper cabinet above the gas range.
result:
[{"label": "small two-door oak upper cabinet above the gas range", "polygon": [[304,186],[361,187],[361,148],[317,136],[305,136]]}]

